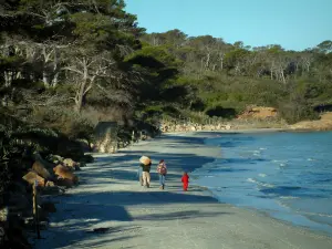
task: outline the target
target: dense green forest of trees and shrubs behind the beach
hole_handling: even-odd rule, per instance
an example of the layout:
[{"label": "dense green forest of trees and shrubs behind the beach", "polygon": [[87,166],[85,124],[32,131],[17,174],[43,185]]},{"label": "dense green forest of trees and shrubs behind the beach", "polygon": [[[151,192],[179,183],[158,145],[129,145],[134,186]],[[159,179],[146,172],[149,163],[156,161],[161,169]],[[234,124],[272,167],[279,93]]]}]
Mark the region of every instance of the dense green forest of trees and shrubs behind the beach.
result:
[{"label": "dense green forest of trees and shrubs behind the beach", "polygon": [[123,0],[0,4],[0,159],[7,170],[19,164],[9,155],[27,151],[14,143],[22,137],[33,141],[32,151],[54,151],[54,137],[91,139],[98,121],[131,129],[163,116],[232,118],[248,105],[277,107],[294,123],[317,118],[331,96],[332,41],[287,51],[179,30],[146,33]]}]

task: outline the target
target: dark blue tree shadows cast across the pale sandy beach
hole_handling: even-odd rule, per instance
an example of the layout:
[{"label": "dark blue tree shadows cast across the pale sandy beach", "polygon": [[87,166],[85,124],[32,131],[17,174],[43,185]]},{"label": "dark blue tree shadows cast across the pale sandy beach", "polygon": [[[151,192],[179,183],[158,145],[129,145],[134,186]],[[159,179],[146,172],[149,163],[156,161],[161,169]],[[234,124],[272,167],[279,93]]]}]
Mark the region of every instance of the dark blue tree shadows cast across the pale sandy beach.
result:
[{"label": "dark blue tree shadows cast across the pale sandy beach", "polygon": [[[178,147],[180,152],[181,147],[190,146],[190,148],[203,144],[203,138],[197,137],[179,137],[179,136],[166,136],[162,137],[163,143],[167,144],[167,147]],[[174,151],[174,149],[173,149]],[[84,178],[93,179],[92,184],[113,184],[112,179],[116,184],[116,180],[133,180],[137,181],[137,175],[135,169],[138,164],[137,160],[142,155],[145,155],[144,151],[124,151],[118,155],[112,157],[95,156],[95,163],[91,164],[91,170],[82,170],[80,175],[83,178],[81,183],[82,189]],[[155,172],[156,164],[159,159],[165,158],[172,172],[187,170],[193,172],[204,164],[212,162],[214,158],[198,156],[196,154],[185,153],[159,153],[148,152],[148,155],[154,160],[152,172]],[[115,167],[116,166],[116,167]],[[93,170],[97,167],[97,170]],[[157,174],[152,173],[153,180],[157,179]],[[167,179],[178,179],[180,183],[180,175],[168,174]],[[106,179],[111,179],[106,180]],[[116,179],[116,180],[115,180]],[[80,188],[80,186],[79,186]],[[89,185],[87,185],[89,188]],[[137,188],[139,188],[137,184]],[[147,191],[80,191],[77,194],[69,195],[68,198],[61,197],[61,201],[58,206],[62,210],[61,215],[52,217],[54,224],[60,224],[60,227],[53,227],[51,231],[48,231],[50,236],[59,237],[54,240],[54,243],[48,245],[49,249],[69,247],[76,245],[80,248],[96,247],[101,248],[103,245],[107,245],[115,240],[126,240],[137,235],[131,234],[132,230],[139,230],[139,227],[135,226],[117,226],[108,227],[105,225],[110,221],[123,221],[127,225],[133,220],[173,220],[173,219],[190,219],[198,217],[214,217],[217,215],[225,215],[226,212],[216,211],[200,211],[199,206],[190,205],[189,210],[186,211],[165,211],[160,214],[141,214],[132,217],[128,208],[134,208],[139,205],[148,207],[165,207],[167,204],[217,204],[217,200],[210,196],[194,195],[190,193],[176,193],[178,189],[176,186],[167,186],[170,191],[155,191],[149,189]],[[193,190],[201,191],[199,188]],[[96,229],[97,226],[103,226]],[[93,230],[96,229],[96,230]],[[139,232],[138,232],[139,234]],[[106,235],[106,236],[105,236]],[[135,235],[135,236],[134,236]],[[65,239],[61,239],[65,236]],[[84,241],[83,241],[84,240]],[[82,245],[82,246],[81,246]]]}]

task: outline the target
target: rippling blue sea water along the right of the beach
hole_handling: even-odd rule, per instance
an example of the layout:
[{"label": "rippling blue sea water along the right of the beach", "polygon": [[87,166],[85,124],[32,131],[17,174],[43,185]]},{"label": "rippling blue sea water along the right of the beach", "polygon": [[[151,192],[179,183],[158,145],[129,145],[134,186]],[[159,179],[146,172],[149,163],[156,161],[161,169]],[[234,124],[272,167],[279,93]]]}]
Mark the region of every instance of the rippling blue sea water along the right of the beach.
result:
[{"label": "rippling blue sea water along the right of the beach", "polygon": [[196,183],[222,203],[332,235],[332,133],[215,134]]}]

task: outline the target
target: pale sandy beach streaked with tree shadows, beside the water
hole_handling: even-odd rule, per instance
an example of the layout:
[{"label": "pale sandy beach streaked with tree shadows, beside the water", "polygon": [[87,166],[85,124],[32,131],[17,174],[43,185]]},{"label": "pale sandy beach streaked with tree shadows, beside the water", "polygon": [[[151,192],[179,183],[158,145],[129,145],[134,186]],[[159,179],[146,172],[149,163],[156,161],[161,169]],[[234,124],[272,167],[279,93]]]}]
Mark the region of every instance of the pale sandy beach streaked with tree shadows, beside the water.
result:
[{"label": "pale sandy beach streaked with tree shadows, beside the water", "polygon": [[[183,169],[195,170],[221,156],[203,144],[203,133],[167,134],[113,155],[95,155],[79,173],[80,186],[52,197],[51,215],[38,249],[201,248],[330,249],[332,238],[272,219],[261,212],[220,204],[199,186],[180,185]],[[139,185],[141,155],[153,159],[152,187]],[[168,166],[160,190],[156,164]]]}]

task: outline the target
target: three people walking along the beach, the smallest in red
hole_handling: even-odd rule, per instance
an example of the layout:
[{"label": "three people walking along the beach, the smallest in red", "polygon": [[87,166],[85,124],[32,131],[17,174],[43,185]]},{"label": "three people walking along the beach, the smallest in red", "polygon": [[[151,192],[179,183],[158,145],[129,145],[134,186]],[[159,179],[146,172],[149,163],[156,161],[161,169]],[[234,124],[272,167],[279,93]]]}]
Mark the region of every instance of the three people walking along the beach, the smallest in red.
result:
[{"label": "three people walking along the beach, the smallest in red", "polygon": [[[145,186],[147,188],[149,188],[151,186],[151,167],[152,167],[152,160],[149,159],[149,157],[143,156],[139,159],[141,164],[138,167],[138,179],[141,183],[141,186]],[[167,175],[167,166],[164,159],[159,160],[159,164],[157,166],[157,174],[159,177],[159,188],[160,189],[165,189],[165,181],[166,181],[166,175]],[[183,187],[184,190],[187,191],[188,190],[188,186],[189,186],[189,176],[188,174],[185,172],[183,177],[181,177],[181,183],[183,183]]]}]

